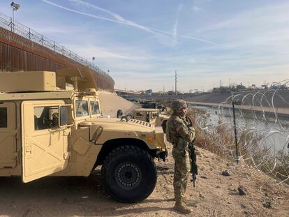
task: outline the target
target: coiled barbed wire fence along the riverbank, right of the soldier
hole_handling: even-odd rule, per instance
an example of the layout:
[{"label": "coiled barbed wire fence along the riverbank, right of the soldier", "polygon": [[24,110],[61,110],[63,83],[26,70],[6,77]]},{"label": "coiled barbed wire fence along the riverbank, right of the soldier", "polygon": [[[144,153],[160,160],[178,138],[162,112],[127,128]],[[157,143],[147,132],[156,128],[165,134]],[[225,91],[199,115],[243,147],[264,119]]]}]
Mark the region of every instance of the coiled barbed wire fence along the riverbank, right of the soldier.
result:
[{"label": "coiled barbed wire fence along the riverbank, right of the soldier", "polygon": [[[208,116],[197,121],[214,147],[247,168],[269,174],[277,184],[289,182],[289,80],[269,89],[251,90],[228,97]],[[237,147],[232,103],[235,104]],[[217,114],[216,114],[217,113]],[[201,124],[202,123],[202,124]]]}]

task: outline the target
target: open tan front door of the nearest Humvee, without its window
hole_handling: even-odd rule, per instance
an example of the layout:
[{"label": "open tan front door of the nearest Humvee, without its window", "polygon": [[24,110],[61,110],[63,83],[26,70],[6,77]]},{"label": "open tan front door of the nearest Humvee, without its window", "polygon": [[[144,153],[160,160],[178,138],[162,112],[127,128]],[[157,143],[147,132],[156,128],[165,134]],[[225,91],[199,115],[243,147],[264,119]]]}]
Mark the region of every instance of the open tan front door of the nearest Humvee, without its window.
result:
[{"label": "open tan front door of the nearest Humvee, without its window", "polygon": [[68,129],[36,130],[34,126],[34,107],[59,105],[64,105],[64,101],[22,103],[22,180],[24,182],[64,170],[68,164]]}]

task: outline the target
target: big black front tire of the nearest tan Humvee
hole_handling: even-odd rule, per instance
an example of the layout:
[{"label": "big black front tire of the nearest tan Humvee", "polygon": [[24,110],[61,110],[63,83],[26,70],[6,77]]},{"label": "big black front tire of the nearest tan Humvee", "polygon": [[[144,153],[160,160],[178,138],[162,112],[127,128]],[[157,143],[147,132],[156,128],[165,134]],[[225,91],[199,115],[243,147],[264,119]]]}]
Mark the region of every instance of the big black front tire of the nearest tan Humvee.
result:
[{"label": "big black front tire of the nearest tan Humvee", "polygon": [[156,186],[156,165],[147,151],[124,145],[112,150],[105,158],[101,179],[115,200],[140,202]]}]

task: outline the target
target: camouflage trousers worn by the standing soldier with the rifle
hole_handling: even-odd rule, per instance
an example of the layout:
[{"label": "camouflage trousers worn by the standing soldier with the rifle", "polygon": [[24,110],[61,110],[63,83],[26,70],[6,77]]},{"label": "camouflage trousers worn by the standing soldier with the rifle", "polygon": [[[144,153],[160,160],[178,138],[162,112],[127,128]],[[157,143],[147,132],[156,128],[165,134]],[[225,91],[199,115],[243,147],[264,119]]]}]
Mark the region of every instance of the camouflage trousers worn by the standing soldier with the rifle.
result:
[{"label": "camouflage trousers worn by the standing soldier with the rifle", "polygon": [[188,147],[184,144],[174,144],[172,156],[175,159],[174,191],[175,200],[181,200],[186,192],[188,175],[191,170],[191,160]]}]

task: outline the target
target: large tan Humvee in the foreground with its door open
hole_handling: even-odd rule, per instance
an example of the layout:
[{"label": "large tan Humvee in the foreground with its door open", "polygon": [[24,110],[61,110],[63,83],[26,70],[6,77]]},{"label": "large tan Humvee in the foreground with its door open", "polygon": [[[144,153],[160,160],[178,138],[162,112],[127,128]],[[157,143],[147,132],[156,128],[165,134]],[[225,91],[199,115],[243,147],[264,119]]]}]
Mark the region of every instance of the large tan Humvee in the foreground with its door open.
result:
[{"label": "large tan Humvee in the foreground with its door open", "polygon": [[101,165],[108,193],[139,202],[165,159],[163,132],[139,120],[101,119],[89,68],[0,73],[0,177],[88,177]]}]

